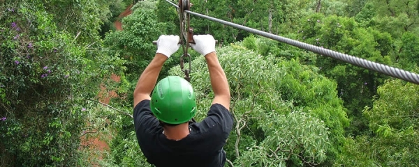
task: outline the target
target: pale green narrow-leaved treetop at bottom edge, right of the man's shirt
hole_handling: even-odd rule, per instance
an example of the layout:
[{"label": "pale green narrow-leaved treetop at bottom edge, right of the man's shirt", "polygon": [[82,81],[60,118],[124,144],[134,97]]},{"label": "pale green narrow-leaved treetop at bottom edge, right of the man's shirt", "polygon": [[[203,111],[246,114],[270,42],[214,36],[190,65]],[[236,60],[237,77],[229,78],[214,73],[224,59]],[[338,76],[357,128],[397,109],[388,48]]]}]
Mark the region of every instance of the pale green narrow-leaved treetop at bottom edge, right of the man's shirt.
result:
[{"label": "pale green narrow-leaved treetop at bottom edge, right of the man's shirt", "polygon": [[263,114],[259,124],[266,138],[259,145],[251,145],[237,159],[244,166],[303,166],[316,165],[326,159],[329,132],[323,121],[302,112],[288,116]]}]

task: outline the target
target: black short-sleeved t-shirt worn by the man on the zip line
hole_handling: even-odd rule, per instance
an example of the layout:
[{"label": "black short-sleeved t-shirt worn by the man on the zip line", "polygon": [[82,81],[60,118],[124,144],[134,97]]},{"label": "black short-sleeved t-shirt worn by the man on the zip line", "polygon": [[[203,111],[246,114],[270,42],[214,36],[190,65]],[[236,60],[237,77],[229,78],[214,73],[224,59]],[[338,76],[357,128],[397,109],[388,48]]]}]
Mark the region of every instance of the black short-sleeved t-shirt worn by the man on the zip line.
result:
[{"label": "black short-sleeved t-shirt worn by the man on the zip line", "polygon": [[134,108],[134,125],[138,144],[147,161],[154,166],[209,166],[226,163],[223,146],[233,128],[233,116],[221,104],[212,104],[207,118],[190,122],[191,132],[179,141],[163,134],[163,127],[154,117],[149,100]]}]

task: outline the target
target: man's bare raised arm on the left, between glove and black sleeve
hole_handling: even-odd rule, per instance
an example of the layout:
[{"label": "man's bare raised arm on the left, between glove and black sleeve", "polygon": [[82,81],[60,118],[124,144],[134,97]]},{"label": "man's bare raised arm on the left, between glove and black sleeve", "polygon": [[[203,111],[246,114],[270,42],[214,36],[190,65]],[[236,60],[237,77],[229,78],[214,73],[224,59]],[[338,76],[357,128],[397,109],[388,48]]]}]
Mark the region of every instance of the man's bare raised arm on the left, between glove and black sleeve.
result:
[{"label": "man's bare raised arm on the left, between glove and black sleeve", "polygon": [[150,94],[156,85],[161,67],[163,67],[164,62],[167,59],[168,57],[163,54],[156,54],[152,62],[145,68],[144,72],[142,72],[134,90],[134,107],[142,100],[151,99]]}]

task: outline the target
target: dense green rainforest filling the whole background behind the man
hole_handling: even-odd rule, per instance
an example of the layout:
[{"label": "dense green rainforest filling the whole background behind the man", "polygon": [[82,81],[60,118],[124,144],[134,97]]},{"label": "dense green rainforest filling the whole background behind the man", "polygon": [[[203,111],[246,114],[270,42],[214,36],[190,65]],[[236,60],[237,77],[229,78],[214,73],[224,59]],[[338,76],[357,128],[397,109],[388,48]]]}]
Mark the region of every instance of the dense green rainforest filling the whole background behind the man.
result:
[{"label": "dense green rainforest filling the whole background behind the man", "polygon": [[[191,3],[196,13],[419,72],[417,0]],[[200,17],[191,27],[219,40],[235,118],[226,166],[418,166],[418,85]],[[1,0],[0,166],[150,166],[132,94],[162,34],[179,34],[165,0]],[[182,53],[160,79],[184,77]],[[199,121],[214,94],[205,58],[189,53]]]}]

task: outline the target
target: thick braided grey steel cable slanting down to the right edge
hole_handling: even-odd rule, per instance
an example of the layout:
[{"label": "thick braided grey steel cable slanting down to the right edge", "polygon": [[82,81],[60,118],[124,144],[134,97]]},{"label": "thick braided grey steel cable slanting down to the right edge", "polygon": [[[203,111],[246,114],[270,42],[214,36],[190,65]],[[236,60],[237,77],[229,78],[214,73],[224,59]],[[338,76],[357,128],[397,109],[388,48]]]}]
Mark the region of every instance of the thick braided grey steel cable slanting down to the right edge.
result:
[{"label": "thick braided grey steel cable slanting down to the right edge", "polygon": [[299,47],[301,49],[306,49],[306,50],[309,50],[309,51],[313,51],[314,53],[317,53],[317,54],[329,56],[331,58],[335,58],[335,59],[338,59],[340,61],[345,61],[346,63],[351,63],[351,64],[357,65],[359,67],[364,67],[364,68],[367,68],[369,70],[374,70],[376,72],[381,72],[381,73],[387,74],[391,77],[396,77],[398,79],[403,79],[404,81],[409,81],[409,82],[412,82],[414,84],[419,84],[419,74],[415,74],[413,72],[400,70],[396,67],[390,67],[388,65],[383,65],[381,63],[375,63],[375,62],[372,62],[372,61],[367,61],[365,59],[358,58],[358,57],[355,57],[355,56],[351,56],[351,55],[348,55],[348,54],[341,54],[337,51],[332,51],[330,49],[324,49],[322,47],[309,45],[309,44],[304,43],[304,42],[300,42],[300,41],[297,41],[297,40],[291,40],[291,39],[288,39],[288,38],[281,37],[279,35],[274,35],[272,33],[267,33],[267,32],[259,31],[259,30],[256,30],[256,29],[251,29],[247,26],[242,26],[242,25],[235,24],[235,23],[232,23],[232,22],[227,22],[227,21],[224,21],[222,19],[216,19],[214,17],[210,17],[210,16],[207,16],[207,15],[202,15],[200,13],[194,13],[194,12],[191,12],[189,10],[185,10],[185,12],[189,13],[191,15],[196,15],[198,17],[203,17],[205,19],[210,19],[211,21],[219,22],[219,23],[225,24],[227,26],[233,26],[234,28],[242,29],[244,31],[248,31],[249,33],[254,33],[254,34],[257,34],[257,35],[261,35],[261,36],[264,36],[266,38],[270,38],[272,40],[277,40],[279,42],[284,42],[288,45],[293,45],[294,47]]}]

